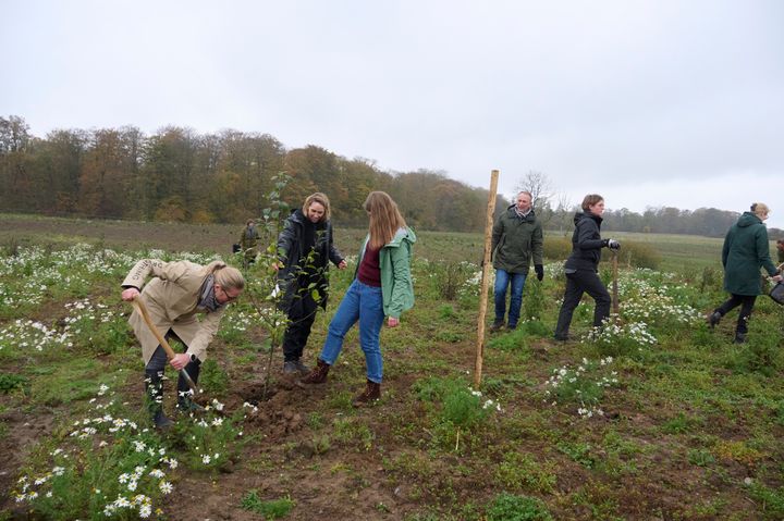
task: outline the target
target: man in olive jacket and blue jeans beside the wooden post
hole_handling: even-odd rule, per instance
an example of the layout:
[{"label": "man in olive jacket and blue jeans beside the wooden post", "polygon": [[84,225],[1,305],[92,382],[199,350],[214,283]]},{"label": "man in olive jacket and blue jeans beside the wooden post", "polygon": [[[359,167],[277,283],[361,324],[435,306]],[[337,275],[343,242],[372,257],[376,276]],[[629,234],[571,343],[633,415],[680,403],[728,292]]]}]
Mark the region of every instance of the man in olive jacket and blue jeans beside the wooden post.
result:
[{"label": "man in olive jacket and blue jeans beside the wooden post", "polygon": [[542,227],[531,208],[529,191],[517,194],[515,204],[511,204],[495,220],[492,234],[491,255],[495,269],[495,321],[492,330],[504,325],[506,313],[506,287],[512,286],[509,311],[509,328],[517,327],[523,288],[528,276],[531,260],[537,278],[544,277],[542,265]]}]

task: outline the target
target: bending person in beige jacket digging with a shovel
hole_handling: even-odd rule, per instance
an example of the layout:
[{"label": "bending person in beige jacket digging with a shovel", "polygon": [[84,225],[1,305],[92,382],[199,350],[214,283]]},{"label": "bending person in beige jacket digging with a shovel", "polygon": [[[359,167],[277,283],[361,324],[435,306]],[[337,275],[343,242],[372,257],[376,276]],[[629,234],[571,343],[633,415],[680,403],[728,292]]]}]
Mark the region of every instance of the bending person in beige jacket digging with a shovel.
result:
[{"label": "bending person in beige jacket digging with a shovel", "polygon": [[[148,277],[152,280],[145,285]],[[175,370],[185,369],[194,382],[198,381],[201,362],[207,358],[207,346],[218,332],[225,306],[236,299],[245,287],[242,273],[222,261],[203,266],[189,261],[164,262],[143,259],[123,281],[122,299],[132,301],[140,295],[158,332],[180,340],[185,352],[175,355],[169,364]],[[197,313],[204,313],[200,321]],[[163,414],[161,380],[167,356],[138,311],[128,319],[136,338],[142,344],[145,362],[145,387],[149,393],[149,411],[156,427],[164,429],[172,421]],[[177,408],[192,411],[199,407],[191,400],[185,379],[177,381]]]}]

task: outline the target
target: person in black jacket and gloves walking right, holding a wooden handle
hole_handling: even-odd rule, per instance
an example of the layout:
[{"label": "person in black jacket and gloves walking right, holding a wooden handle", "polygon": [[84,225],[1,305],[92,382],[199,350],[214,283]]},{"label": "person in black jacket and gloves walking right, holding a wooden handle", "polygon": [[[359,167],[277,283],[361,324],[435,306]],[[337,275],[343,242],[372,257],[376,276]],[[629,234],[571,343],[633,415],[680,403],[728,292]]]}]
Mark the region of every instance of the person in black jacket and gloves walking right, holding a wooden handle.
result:
[{"label": "person in black jacket and gloves walking right, holding a wooden handle", "polygon": [[568,339],[572,315],[580,302],[583,294],[590,295],[595,302],[593,326],[601,327],[610,315],[610,294],[599,275],[601,249],[618,249],[621,244],[613,239],[602,239],[600,235],[604,199],[597,194],[589,194],[583,199],[583,212],[575,213],[575,231],[572,234],[572,255],[566,259],[566,291],[555,325],[555,339]]}]

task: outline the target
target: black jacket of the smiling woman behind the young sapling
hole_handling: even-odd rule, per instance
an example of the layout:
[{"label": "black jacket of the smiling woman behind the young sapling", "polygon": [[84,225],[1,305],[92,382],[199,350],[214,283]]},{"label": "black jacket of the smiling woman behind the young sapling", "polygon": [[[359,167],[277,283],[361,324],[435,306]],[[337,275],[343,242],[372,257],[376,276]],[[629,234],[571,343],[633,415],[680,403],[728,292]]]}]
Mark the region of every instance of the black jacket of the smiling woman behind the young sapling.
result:
[{"label": "black jacket of the smiling woman behind the young sapling", "polygon": [[[308,225],[316,227],[316,244],[310,261],[307,258],[309,250],[305,251],[304,244],[305,226]],[[278,285],[284,291],[281,309],[289,310],[294,296],[299,294],[301,289],[307,289],[314,282],[319,291],[317,303],[326,308],[329,290],[329,277],[327,277],[329,261],[338,265],[343,260],[343,256],[332,245],[332,223],[324,221],[311,224],[302,210],[294,210],[278,236],[278,258],[284,264],[284,268],[278,271]],[[310,291],[306,290],[305,294],[309,295]]]}]

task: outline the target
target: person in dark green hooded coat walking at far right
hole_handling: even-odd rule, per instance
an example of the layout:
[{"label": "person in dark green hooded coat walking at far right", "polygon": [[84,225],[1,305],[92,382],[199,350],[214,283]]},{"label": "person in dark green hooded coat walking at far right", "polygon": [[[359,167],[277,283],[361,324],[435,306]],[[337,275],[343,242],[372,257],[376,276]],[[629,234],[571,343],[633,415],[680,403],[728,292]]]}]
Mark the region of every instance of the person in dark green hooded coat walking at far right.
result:
[{"label": "person in dark green hooded coat walking at far right", "polygon": [[764,268],[774,281],[781,281],[779,270],[770,258],[768,230],[762,223],[768,219],[769,208],[762,202],[751,204],[750,212],[744,212],[733,224],[724,238],[722,265],[724,266],[724,289],[730,298],[713,310],[708,323],[713,328],[730,310],[740,306],[735,343],[746,342],[748,321],[751,317],[757,295],[762,294],[760,268]]}]

